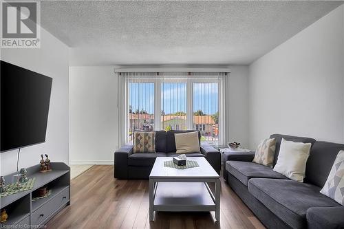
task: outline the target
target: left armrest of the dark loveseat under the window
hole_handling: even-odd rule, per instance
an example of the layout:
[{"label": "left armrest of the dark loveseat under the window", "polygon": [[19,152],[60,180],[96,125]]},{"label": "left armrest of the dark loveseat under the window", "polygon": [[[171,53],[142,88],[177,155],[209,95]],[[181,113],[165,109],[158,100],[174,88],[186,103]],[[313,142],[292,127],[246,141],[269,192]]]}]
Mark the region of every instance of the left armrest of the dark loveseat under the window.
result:
[{"label": "left armrest of the dark loveseat under the window", "polygon": [[128,179],[128,157],[133,153],[133,145],[124,145],[115,151],[114,177]]}]

